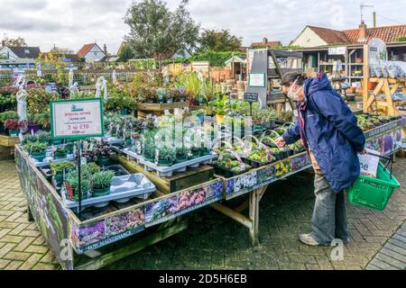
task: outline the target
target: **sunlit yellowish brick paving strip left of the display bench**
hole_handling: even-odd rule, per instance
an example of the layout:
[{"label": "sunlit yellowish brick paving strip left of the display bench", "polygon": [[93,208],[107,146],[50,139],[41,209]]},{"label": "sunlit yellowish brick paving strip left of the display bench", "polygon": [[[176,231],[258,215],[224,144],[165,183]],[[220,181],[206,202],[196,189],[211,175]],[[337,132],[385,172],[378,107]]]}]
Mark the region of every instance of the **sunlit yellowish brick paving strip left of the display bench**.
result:
[{"label": "sunlit yellowish brick paving strip left of the display bench", "polygon": [[0,161],[0,269],[57,269],[26,205],[14,161]]}]

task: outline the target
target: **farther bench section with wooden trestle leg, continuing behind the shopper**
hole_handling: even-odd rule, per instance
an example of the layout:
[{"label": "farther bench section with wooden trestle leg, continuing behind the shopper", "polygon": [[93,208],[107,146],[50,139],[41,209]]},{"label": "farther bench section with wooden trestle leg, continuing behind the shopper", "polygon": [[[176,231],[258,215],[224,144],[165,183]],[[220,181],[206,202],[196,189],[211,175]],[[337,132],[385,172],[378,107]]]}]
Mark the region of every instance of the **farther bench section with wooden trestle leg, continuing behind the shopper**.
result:
[{"label": "farther bench section with wooden trestle leg, continuing behind the shopper", "polygon": [[[402,147],[401,130],[405,125],[406,118],[403,118],[364,132],[366,148],[374,149],[383,156],[393,155],[395,157],[395,153],[400,151]],[[258,245],[259,203],[263,198],[263,194],[271,190],[268,189],[270,184],[310,167],[309,156],[303,153],[269,166],[251,170],[244,175],[224,179],[226,183],[226,199],[233,199],[248,194],[248,200],[235,209],[220,203],[212,204],[212,208],[249,229],[252,244],[254,246]],[[248,217],[242,213],[246,209],[249,209]]]}]

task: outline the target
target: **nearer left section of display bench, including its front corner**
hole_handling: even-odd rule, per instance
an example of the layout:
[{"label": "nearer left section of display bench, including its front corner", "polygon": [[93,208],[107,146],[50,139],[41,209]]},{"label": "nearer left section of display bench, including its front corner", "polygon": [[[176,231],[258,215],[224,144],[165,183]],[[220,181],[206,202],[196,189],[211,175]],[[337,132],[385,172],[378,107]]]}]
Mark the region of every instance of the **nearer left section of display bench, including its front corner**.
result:
[{"label": "nearer left section of display bench, including its front corner", "polygon": [[18,145],[15,162],[29,217],[63,269],[98,269],[112,264],[187,229],[187,223],[178,219],[181,215],[224,196],[224,182],[215,179],[176,193],[157,192],[144,202],[109,205],[89,214],[85,211],[79,220]]}]

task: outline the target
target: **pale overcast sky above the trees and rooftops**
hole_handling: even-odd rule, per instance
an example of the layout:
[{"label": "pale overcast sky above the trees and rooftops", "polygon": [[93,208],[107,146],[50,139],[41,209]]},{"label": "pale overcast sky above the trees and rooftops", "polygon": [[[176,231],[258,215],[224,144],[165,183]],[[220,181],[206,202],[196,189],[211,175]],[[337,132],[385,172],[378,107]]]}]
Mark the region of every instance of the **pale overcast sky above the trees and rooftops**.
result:
[{"label": "pale overcast sky above the trees and rooftops", "polygon": [[[281,40],[287,45],[305,25],[337,30],[351,29],[360,23],[359,5],[364,9],[368,27],[406,24],[406,0],[190,0],[189,11],[202,28],[229,29],[242,36],[244,44]],[[0,37],[22,36],[30,46],[47,51],[56,44],[78,51],[95,40],[106,43],[115,54],[128,27],[124,16],[132,0],[0,0]],[[180,0],[168,0],[175,8]]]}]

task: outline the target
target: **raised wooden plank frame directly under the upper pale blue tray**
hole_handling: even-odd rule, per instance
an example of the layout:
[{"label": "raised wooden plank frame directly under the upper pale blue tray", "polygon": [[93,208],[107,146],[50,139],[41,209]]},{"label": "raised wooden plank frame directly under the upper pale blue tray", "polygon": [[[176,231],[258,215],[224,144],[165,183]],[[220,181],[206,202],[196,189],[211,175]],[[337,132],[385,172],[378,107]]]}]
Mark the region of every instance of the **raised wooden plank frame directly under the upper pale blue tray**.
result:
[{"label": "raised wooden plank frame directly under the upper pale blue tray", "polygon": [[124,156],[115,156],[115,160],[130,173],[143,173],[143,175],[147,176],[147,178],[155,184],[161,193],[174,193],[197,184],[208,182],[213,179],[215,172],[212,166],[201,165],[198,168],[188,169],[186,172],[175,173],[171,177],[163,178],[156,175],[155,172],[146,171],[143,166],[138,165],[133,160],[128,160]]}]

